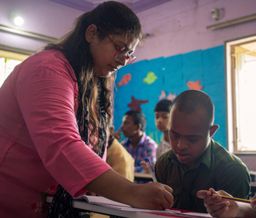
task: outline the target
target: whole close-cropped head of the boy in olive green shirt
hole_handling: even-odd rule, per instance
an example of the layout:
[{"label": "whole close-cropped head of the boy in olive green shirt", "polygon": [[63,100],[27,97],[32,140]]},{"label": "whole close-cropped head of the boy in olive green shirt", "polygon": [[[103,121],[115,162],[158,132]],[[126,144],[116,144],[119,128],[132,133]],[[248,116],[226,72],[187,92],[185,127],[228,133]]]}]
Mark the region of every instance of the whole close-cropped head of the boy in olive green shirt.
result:
[{"label": "whole close-cropped head of the boy in olive green shirt", "polygon": [[218,128],[214,125],[214,103],[209,95],[187,90],[175,98],[170,109],[169,138],[180,163],[188,168],[194,166]]}]

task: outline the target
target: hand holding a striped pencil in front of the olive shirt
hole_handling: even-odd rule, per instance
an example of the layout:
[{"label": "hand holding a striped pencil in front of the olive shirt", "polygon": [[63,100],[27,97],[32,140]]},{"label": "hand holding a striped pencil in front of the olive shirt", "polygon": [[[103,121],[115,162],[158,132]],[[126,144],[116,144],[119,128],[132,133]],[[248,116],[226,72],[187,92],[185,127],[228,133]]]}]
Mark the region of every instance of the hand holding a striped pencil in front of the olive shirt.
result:
[{"label": "hand holding a striped pencil in front of the olive shirt", "polygon": [[216,192],[212,188],[209,191],[201,190],[197,192],[197,197],[204,199],[204,206],[212,217],[237,217],[239,214],[239,205],[237,202],[227,201],[219,195],[212,196],[212,194],[230,196],[225,191]]}]

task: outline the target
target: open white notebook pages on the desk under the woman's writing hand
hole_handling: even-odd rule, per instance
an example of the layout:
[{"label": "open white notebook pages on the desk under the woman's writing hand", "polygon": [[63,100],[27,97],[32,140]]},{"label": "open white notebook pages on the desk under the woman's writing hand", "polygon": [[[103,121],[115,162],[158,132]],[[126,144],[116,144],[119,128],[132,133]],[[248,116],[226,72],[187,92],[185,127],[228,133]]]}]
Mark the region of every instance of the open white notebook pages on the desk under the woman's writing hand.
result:
[{"label": "open white notebook pages on the desk under the woman's writing hand", "polygon": [[104,207],[111,207],[115,209],[119,209],[121,211],[135,211],[135,212],[146,212],[146,213],[154,213],[154,214],[161,214],[162,216],[164,215],[172,215],[176,217],[194,217],[194,218],[205,218],[205,217],[212,217],[210,214],[201,214],[197,212],[181,212],[181,211],[174,211],[172,209],[167,209],[165,211],[157,211],[157,210],[148,210],[148,209],[139,209],[139,208],[134,208],[130,207],[127,204],[122,204],[116,201],[112,201],[110,199],[107,199],[106,197],[101,197],[101,196],[86,196],[82,195],[75,200],[86,200],[89,204],[96,204]]}]

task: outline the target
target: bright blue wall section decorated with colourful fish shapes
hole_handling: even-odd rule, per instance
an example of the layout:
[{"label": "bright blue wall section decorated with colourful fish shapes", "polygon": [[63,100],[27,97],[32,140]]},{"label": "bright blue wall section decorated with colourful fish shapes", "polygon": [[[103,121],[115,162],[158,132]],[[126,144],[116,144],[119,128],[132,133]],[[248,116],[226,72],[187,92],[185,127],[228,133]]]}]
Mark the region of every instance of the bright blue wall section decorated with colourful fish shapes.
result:
[{"label": "bright blue wall section decorated with colourful fish shapes", "polygon": [[[157,78],[147,77],[148,72],[154,72]],[[159,143],[162,133],[155,128],[154,107],[160,100],[161,91],[164,91],[166,96],[169,93],[179,95],[189,89],[187,82],[200,80],[199,85],[202,86],[202,91],[210,95],[214,102],[215,123],[220,125],[214,140],[226,147],[224,46],[167,58],[142,60],[127,65],[118,70],[116,84],[121,82],[127,73],[131,74],[130,81],[126,85],[117,86],[115,92],[114,126],[116,130],[122,124],[124,113],[130,110],[127,105],[132,101],[132,96],[137,100],[148,100],[147,103],[140,104],[147,118],[145,132]]]}]

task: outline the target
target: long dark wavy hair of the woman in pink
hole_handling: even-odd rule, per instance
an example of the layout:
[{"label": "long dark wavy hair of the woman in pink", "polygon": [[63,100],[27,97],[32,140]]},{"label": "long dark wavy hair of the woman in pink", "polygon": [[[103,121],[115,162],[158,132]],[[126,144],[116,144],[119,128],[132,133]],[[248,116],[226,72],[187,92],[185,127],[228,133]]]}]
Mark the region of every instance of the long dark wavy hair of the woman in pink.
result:
[{"label": "long dark wavy hair of the woman in pink", "polygon": [[[66,34],[56,44],[48,44],[43,50],[57,49],[60,50],[69,60],[79,87],[79,98],[82,105],[79,105],[77,116],[81,116],[81,111],[88,105],[89,108],[89,128],[91,130],[90,139],[97,136],[99,127],[99,114],[96,108],[99,107],[97,101],[97,80],[102,82],[104,92],[104,105],[107,112],[107,123],[109,125],[112,118],[111,98],[114,87],[114,77],[112,74],[108,78],[97,78],[94,75],[93,59],[86,41],[86,30],[91,24],[106,32],[106,34],[120,34],[125,36],[134,36],[137,39],[142,37],[142,29],[139,18],[126,5],[116,2],[107,1],[99,4],[92,11],[86,12],[77,18],[74,29]],[[101,31],[98,31],[99,39],[106,37]],[[87,99],[87,102],[85,102]],[[91,144],[97,149],[99,141]]]}]

